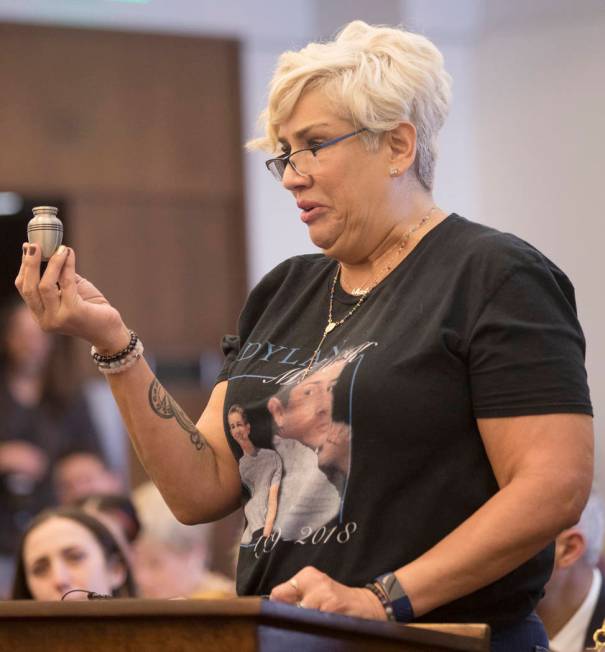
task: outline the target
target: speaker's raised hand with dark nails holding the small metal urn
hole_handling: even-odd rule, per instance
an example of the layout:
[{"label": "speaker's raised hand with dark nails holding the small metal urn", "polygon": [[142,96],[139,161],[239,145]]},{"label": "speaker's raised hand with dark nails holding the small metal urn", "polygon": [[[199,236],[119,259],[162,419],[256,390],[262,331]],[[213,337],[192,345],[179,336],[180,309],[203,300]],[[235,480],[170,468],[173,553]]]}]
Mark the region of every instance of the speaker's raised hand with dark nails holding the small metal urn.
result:
[{"label": "speaker's raised hand with dark nails holding the small metal urn", "polygon": [[15,286],[40,327],[47,332],[81,337],[100,352],[122,349],[130,340],[120,313],[90,281],[76,274],[73,249],[61,246],[42,277],[40,247],[23,245]]}]

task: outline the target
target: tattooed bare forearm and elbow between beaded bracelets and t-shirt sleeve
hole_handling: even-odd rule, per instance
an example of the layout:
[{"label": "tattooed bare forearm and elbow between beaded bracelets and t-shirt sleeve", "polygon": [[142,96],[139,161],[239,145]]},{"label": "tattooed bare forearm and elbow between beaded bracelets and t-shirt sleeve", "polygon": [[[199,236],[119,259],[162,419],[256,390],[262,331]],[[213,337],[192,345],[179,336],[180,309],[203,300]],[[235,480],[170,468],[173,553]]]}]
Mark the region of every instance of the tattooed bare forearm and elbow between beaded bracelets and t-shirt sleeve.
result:
[{"label": "tattooed bare forearm and elbow between beaded bracelets and t-shirt sleeve", "polygon": [[226,382],[194,424],[144,360],[108,380],[141,463],[179,520],[211,521],[240,506],[239,470],[223,431]]}]

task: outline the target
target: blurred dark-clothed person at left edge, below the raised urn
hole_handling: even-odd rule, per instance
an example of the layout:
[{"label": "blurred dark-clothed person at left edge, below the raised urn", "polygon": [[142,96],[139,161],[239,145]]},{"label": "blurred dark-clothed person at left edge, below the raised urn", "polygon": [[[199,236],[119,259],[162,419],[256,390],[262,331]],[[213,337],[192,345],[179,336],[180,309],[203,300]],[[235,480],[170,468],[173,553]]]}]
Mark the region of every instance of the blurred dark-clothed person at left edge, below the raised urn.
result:
[{"label": "blurred dark-clothed person at left edge, below the raised urn", "polygon": [[44,333],[17,299],[0,311],[0,595],[23,528],[55,503],[55,462],[99,453],[70,353],[71,342]]}]

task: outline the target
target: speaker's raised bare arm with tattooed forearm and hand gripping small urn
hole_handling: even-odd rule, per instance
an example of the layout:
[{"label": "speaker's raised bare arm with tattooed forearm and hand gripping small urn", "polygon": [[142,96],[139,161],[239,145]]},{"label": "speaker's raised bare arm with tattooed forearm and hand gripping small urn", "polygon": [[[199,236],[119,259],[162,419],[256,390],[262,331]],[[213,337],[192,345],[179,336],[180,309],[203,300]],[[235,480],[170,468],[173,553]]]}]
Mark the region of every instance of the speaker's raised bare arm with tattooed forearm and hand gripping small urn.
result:
[{"label": "speaker's raised bare arm with tattooed forearm and hand gripping small urn", "polygon": [[[75,268],[75,253],[62,247],[40,278],[40,249],[26,246],[15,285],[43,330],[121,350],[129,335],[119,312]],[[239,471],[223,429],[227,383],[215,387],[194,425],[145,360],[109,382],[139,457],[177,518],[208,521],[239,506]]]}]

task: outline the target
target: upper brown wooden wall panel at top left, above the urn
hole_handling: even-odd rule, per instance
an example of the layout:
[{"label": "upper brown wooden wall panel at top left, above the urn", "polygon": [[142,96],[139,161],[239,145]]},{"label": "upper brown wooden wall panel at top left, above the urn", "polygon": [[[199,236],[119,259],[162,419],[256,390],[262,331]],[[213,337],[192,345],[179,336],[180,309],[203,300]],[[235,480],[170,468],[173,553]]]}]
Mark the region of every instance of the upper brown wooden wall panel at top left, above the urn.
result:
[{"label": "upper brown wooden wall panel at top left, above the urn", "polygon": [[0,178],[239,193],[234,41],[0,24]]}]

